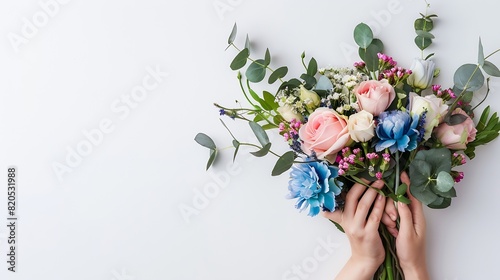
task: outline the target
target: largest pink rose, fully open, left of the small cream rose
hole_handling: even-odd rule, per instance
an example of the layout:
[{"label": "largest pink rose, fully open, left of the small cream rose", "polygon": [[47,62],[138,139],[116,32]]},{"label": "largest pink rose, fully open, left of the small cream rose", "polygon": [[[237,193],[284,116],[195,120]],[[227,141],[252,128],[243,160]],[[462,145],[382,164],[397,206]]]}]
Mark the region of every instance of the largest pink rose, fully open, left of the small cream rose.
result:
[{"label": "largest pink rose, fully open, left of the small cream rose", "polygon": [[318,108],[299,130],[299,137],[304,141],[302,150],[309,154],[316,152],[318,159],[336,154],[349,140],[347,121],[344,116],[332,109]]}]

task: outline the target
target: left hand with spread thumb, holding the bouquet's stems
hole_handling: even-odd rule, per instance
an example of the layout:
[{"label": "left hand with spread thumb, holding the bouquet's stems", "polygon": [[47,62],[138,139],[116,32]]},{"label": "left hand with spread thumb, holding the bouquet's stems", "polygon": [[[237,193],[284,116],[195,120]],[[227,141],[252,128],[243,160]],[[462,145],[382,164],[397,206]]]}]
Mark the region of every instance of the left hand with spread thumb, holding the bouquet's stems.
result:
[{"label": "left hand with spread thumb, holding the bouquet's stems", "polygon": [[384,261],[385,250],[378,228],[386,199],[373,189],[383,186],[380,180],[368,189],[354,184],[347,193],[344,211],[324,212],[326,218],[342,226],[351,245],[351,258],[336,279],[371,279]]}]

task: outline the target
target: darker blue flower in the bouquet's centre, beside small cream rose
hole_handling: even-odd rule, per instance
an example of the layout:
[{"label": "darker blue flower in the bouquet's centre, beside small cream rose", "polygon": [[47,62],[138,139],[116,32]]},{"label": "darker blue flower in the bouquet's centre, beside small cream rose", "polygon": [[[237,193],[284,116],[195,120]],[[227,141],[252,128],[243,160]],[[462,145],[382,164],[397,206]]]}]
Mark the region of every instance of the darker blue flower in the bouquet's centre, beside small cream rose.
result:
[{"label": "darker blue flower in the bouquet's centre, beside small cream rose", "polygon": [[375,145],[375,150],[380,152],[389,148],[391,153],[397,150],[411,151],[417,147],[419,116],[410,116],[408,112],[388,111],[379,115],[379,123],[375,132],[379,140]]}]

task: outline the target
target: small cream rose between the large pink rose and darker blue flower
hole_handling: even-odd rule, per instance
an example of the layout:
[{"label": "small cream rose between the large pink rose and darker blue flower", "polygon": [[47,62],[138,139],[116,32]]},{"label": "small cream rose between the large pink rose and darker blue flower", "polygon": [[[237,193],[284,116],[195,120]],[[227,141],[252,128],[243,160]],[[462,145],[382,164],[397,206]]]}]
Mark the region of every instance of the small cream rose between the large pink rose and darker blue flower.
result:
[{"label": "small cream rose between the large pink rose and darker blue flower", "polygon": [[349,116],[347,129],[352,140],[356,142],[367,142],[375,136],[375,122],[373,115],[362,110]]}]

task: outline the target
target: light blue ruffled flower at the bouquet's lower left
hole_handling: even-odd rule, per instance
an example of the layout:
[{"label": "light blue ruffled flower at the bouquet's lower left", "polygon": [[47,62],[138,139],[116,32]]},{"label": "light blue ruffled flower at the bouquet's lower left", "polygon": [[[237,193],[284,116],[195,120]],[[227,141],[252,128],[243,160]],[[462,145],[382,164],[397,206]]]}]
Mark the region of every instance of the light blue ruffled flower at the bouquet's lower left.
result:
[{"label": "light blue ruffled flower at the bouquet's lower left", "polygon": [[297,198],[295,207],[300,211],[309,207],[309,216],[316,216],[323,208],[335,211],[335,196],[340,186],[335,183],[338,168],[325,162],[295,164],[290,173],[287,198]]}]

